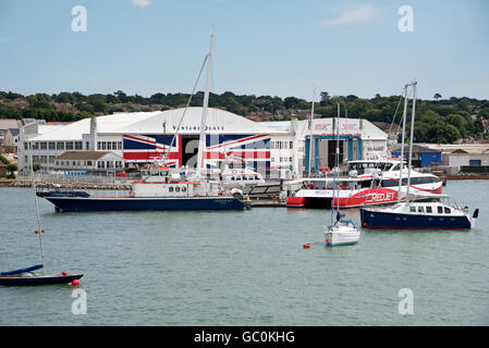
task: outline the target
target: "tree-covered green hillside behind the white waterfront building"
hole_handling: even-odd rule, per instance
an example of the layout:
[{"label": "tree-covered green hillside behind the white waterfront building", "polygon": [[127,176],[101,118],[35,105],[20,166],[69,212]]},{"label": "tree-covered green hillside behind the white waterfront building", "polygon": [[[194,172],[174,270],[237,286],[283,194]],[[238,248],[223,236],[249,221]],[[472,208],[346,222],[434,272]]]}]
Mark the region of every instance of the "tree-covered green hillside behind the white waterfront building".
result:
[{"label": "tree-covered green hillside behind the white waterfront building", "polygon": [[[74,122],[91,115],[113,114],[118,112],[157,111],[185,107],[188,94],[161,94],[150,97],[129,96],[122,90],[113,94],[60,92],[58,95],[36,94],[23,96],[12,91],[0,91],[0,119],[38,119],[47,122]],[[337,103],[341,104],[342,117],[366,119],[375,123],[391,124],[401,122],[402,101],[400,96],[371,99],[354,95],[330,96],[320,92],[315,102],[315,117],[334,117]],[[191,105],[203,104],[204,92],[192,98]],[[310,113],[310,101],[296,97],[271,97],[255,95],[235,95],[225,91],[210,94],[209,107],[220,108],[240,114],[253,121],[305,120]],[[408,110],[409,111],[409,110]],[[411,111],[409,111],[411,112]],[[482,120],[489,119],[489,101],[467,97],[443,99],[440,94],[433,100],[416,101],[416,142],[448,144],[465,138],[482,137]],[[487,136],[487,135],[486,135]]]}]

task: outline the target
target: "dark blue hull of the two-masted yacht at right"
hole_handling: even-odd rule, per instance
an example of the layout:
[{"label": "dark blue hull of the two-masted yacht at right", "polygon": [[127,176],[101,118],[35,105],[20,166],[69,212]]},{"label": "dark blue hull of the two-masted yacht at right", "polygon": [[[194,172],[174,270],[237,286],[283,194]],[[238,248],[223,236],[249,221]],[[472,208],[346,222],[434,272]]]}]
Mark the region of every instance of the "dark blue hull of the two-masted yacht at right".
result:
[{"label": "dark blue hull of the two-masted yacht at right", "polygon": [[389,229],[469,229],[470,220],[467,216],[447,215],[412,215],[386,212],[370,212],[360,209],[362,226],[366,228]]}]

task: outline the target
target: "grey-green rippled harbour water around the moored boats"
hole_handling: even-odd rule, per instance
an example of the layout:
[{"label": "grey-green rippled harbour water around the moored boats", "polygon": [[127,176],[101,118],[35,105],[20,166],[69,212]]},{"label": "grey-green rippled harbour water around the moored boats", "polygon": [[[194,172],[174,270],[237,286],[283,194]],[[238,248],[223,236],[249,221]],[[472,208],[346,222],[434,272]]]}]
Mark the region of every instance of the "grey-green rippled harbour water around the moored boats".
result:
[{"label": "grey-green rippled harbour water around the moored boats", "polygon": [[[56,213],[40,199],[48,271],[85,274],[87,313],[70,285],[0,286],[0,325],[488,325],[488,188],[444,188],[480,209],[469,232],[364,229],[310,249],[329,211]],[[0,270],[38,263],[32,190],[1,188],[0,214]]]}]

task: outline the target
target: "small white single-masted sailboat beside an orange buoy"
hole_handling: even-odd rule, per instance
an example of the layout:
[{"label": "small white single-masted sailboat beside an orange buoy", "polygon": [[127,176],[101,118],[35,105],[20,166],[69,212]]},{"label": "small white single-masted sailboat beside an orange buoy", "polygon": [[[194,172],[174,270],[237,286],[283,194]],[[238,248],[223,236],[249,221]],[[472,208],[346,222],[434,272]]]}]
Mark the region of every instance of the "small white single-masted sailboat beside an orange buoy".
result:
[{"label": "small white single-masted sailboat beside an orange buoy", "polygon": [[[340,119],[340,104],[338,104],[338,121]],[[339,122],[337,122],[337,149],[334,152],[334,167],[339,167],[340,156],[340,137],[339,137]],[[345,246],[358,243],[360,237],[359,229],[355,226],[352,220],[344,219],[345,215],[340,212],[340,206],[335,203],[334,195],[338,195],[337,179],[338,171],[333,171],[333,199],[331,209],[331,225],[325,231],[326,244],[330,247]],[[337,208],[337,209],[335,209]],[[335,213],[335,214],[334,214]],[[335,217],[334,217],[335,215]]]}]

